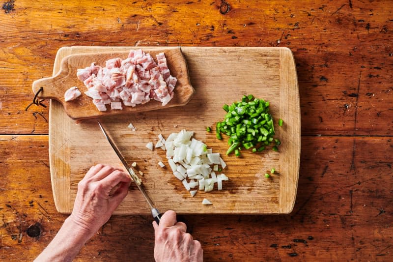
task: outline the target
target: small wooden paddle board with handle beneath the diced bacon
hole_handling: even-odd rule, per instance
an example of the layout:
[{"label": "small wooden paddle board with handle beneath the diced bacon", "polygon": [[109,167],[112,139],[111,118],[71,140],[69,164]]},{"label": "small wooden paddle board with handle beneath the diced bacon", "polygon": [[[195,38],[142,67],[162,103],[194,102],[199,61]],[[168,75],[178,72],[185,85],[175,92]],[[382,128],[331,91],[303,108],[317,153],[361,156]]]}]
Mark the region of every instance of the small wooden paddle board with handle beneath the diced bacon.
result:
[{"label": "small wooden paddle board with handle beneath the diced bacon", "polygon": [[[92,62],[95,62],[96,65],[104,67],[105,62],[109,59],[126,59],[132,47],[129,47],[128,49],[128,51],[111,52],[111,49],[109,48],[107,49],[109,52],[100,54],[74,54],[67,57],[61,57],[60,69],[57,71],[55,76],[38,79],[33,82],[33,94],[37,93],[38,90],[43,87],[43,90],[39,93],[38,98],[57,100],[64,107],[66,114],[73,119],[88,119],[122,114],[138,114],[144,111],[183,106],[190,101],[195,90],[190,84],[187,63],[183,54],[181,53],[180,47],[146,47],[143,48],[144,51],[150,53],[153,58],[155,58],[155,56],[159,53],[165,53],[168,61],[168,68],[171,74],[177,78],[176,92],[174,93],[172,100],[170,100],[167,105],[162,106],[161,102],[152,100],[149,103],[138,105],[136,107],[123,105],[123,110],[111,110],[110,107],[107,107],[107,111],[102,112],[98,111],[96,106],[93,104],[92,99],[84,94],[72,101],[65,102],[64,93],[70,87],[79,87],[82,93],[87,91],[87,88],[84,87],[84,84],[77,78],[77,70],[79,68],[89,67]],[[63,53],[61,49],[59,52],[60,54]],[[59,56],[56,56],[56,58],[58,59]]]}]

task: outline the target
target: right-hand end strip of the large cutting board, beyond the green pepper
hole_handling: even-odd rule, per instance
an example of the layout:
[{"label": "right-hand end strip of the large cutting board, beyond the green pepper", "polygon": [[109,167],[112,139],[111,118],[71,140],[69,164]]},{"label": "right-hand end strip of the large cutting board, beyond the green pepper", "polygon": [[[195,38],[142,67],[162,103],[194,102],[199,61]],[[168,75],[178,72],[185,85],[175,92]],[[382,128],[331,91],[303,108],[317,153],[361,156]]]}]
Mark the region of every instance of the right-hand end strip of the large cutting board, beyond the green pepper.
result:
[{"label": "right-hand end strip of the large cutting board, beyond the green pepper", "polygon": [[[296,76],[296,79],[288,76]],[[291,102],[292,101],[292,102]],[[289,48],[280,50],[280,214],[289,214],[295,205],[300,169],[300,99],[295,59]],[[291,121],[289,121],[289,119]],[[285,122],[292,122],[287,125]],[[283,138],[286,137],[285,140]],[[285,164],[284,164],[285,163]],[[282,194],[286,192],[286,194]]]}]

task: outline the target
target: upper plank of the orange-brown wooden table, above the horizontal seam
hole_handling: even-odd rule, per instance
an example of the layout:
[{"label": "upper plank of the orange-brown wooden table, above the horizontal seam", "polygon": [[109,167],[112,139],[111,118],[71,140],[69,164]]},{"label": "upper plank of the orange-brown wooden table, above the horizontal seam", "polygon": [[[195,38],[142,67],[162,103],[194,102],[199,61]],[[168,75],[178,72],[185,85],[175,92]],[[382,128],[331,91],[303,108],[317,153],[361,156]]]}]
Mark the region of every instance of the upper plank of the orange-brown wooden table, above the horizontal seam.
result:
[{"label": "upper plank of the orange-brown wooden table, above the horizontal seam", "polygon": [[63,46],[181,45],[289,47],[303,134],[392,134],[381,121],[393,118],[392,1],[228,1],[225,14],[219,0],[189,2],[19,0],[1,10],[1,133],[48,133],[37,114],[48,109],[24,108]]}]

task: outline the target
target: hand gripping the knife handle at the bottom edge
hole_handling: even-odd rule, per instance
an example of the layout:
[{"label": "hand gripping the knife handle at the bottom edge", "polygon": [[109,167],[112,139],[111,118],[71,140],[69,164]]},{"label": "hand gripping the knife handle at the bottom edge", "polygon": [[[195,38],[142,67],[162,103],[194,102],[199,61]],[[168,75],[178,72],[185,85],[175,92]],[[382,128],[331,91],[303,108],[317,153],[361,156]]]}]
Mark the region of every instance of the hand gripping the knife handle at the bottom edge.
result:
[{"label": "hand gripping the knife handle at the bottom edge", "polygon": [[168,210],[161,217],[160,224],[153,222],[154,227],[154,259],[156,262],[200,262],[203,261],[203,250],[191,234],[186,233],[187,226],[183,222],[176,223],[176,213]]}]

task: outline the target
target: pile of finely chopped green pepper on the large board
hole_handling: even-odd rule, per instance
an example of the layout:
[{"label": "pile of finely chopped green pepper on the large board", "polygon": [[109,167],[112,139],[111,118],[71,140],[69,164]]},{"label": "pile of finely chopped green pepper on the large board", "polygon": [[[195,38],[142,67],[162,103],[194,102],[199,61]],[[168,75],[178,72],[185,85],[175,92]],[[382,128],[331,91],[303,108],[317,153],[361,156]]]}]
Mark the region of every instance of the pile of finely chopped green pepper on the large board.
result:
[{"label": "pile of finely chopped green pepper on the large board", "polygon": [[[275,143],[272,150],[278,151],[281,142],[274,139],[273,117],[269,114],[269,102],[255,98],[252,94],[244,95],[241,102],[224,105],[226,112],[222,122],[216,124],[216,137],[222,139],[221,133],[229,137],[226,154],[234,151],[240,156],[240,150],[250,149],[260,152]],[[281,119],[280,119],[281,120]],[[282,120],[280,121],[282,125]]]}]

